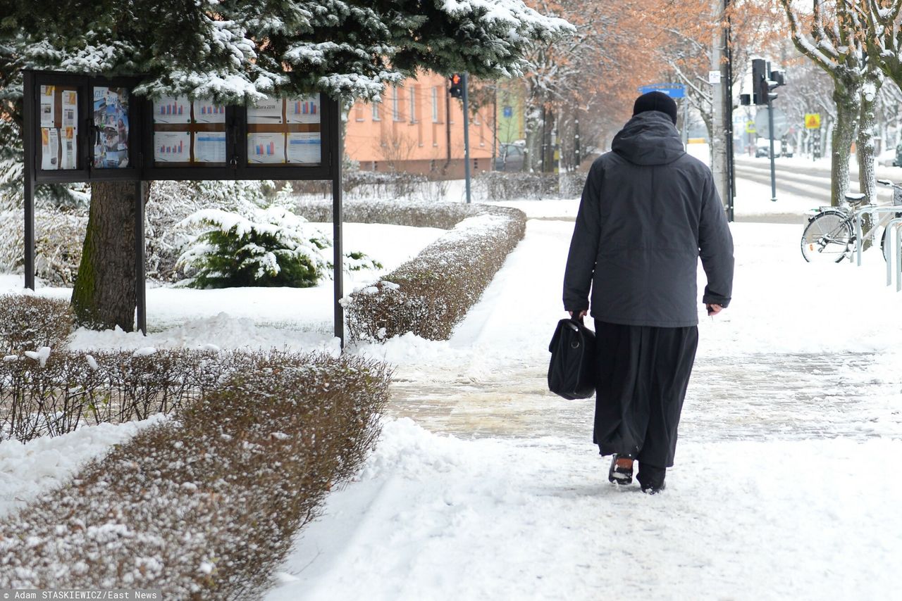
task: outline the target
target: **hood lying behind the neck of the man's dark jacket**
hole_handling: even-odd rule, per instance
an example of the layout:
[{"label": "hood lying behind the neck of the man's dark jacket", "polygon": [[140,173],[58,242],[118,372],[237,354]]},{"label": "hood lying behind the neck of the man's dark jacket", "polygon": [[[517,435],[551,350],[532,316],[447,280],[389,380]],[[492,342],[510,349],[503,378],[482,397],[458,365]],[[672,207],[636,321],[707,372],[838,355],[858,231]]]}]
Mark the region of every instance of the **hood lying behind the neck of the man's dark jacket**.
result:
[{"label": "hood lying behind the neck of the man's dark jacket", "polygon": [[635,165],[666,165],[686,154],[676,125],[658,111],[630,119],[614,136],[611,150]]}]

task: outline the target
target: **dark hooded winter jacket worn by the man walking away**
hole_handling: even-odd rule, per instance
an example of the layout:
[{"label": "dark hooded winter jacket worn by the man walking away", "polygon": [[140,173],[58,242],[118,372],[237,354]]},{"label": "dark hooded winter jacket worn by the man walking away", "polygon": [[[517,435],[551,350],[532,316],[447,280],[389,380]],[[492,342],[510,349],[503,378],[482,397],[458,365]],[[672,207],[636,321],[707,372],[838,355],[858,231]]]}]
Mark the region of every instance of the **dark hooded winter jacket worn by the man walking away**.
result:
[{"label": "dark hooded winter jacket worn by the man walking away", "polygon": [[564,276],[564,308],[609,323],[698,323],[732,294],[732,235],[711,170],[683,150],[667,114],[635,115],[589,170]]}]

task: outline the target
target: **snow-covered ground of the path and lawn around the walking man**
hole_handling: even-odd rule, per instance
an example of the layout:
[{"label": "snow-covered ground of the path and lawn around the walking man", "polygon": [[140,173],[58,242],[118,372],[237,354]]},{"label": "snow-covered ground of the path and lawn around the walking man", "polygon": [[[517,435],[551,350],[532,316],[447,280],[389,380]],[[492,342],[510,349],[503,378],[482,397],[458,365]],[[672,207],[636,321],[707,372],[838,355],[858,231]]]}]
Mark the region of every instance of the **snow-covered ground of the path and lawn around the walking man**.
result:
[{"label": "snow-covered ground of the path and lawn around the walking man", "polygon": [[[879,253],[861,268],[809,265],[801,225],[732,225],[734,299],[701,317],[676,466],[664,494],[644,496],[608,484],[591,401],[545,384],[575,202],[517,203],[539,218],[450,341],[351,350],[397,365],[382,441],[299,534],[267,598],[896,596],[902,294],[884,286]],[[787,202],[800,223],[820,204]],[[328,293],[321,309],[293,292],[160,290],[167,329],[150,343],[335,351]],[[148,341],[79,332],[76,344]]]}]

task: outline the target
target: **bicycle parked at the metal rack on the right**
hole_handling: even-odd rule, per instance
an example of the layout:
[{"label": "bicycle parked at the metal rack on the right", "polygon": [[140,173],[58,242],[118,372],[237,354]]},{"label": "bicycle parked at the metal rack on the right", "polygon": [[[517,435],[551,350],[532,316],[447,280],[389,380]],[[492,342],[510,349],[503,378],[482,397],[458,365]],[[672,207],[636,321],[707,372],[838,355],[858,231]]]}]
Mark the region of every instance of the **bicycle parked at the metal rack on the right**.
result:
[{"label": "bicycle parked at the metal rack on the right", "polygon": [[[893,205],[902,205],[902,185],[894,184],[888,179],[878,179],[879,184],[893,188]],[[859,241],[855,236],[855,214],[867,211],[874,205],[864,205],[864,195],[848,192],[845,204],[840,206],[822,206],[808,218],[805,231],[802,232],[802,256],[809,263],[839,263],[843,259],[851,260],[852,254],[858,250]],[[879,226],[885,226],[893,216],[902,216],[902,212],[886,214],[881,217],[863,237],[877,232]],[[880,239],[880,250],[883,260],[887,260],[889,242],[888,230],[884,229]]]}]

